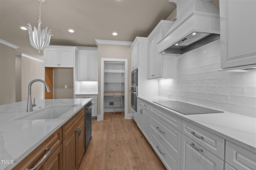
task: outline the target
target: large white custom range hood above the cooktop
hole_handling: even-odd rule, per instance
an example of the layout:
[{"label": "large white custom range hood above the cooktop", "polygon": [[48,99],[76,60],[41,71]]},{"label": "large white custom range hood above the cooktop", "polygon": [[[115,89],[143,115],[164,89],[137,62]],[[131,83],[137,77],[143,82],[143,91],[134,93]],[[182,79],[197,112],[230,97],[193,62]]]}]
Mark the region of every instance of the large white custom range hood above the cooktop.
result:
[{"label": "large white custom range hood above the cooktop", "polygon": [[220,38],[220,11],[212,0],[169,0],[177,19],[158,42],[158,53],[183,54]]}]

